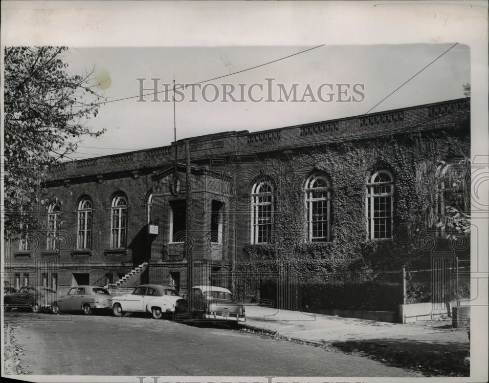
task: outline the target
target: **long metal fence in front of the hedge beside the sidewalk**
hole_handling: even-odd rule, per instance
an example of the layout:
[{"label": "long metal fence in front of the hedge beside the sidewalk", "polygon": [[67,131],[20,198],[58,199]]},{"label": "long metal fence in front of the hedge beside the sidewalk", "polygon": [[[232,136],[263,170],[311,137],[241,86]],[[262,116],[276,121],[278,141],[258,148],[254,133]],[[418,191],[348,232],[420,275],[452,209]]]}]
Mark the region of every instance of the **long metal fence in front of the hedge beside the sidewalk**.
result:
[{"label": "long metal fence in front of the hedge beside the sidewalk", "polygon": [[280,273],[213,273],[209,282],[229,289],[245,304],[292,310],[329,305],[389,311],[397,310],[399,304],[458,304],[460,299],[469,298],[470,261],[437,260],[423,270],[323,274],[301,274],[294,267],[285,267]]}]

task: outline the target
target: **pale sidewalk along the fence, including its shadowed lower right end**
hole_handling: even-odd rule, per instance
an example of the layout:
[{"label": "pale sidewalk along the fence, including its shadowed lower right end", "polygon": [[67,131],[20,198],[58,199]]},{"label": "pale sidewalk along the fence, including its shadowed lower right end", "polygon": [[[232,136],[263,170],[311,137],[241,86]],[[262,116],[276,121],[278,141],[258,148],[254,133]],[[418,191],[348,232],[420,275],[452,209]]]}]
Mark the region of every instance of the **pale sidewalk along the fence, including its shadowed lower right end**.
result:
[{"label": "pale sidewalk along the fence, including its shadowed lower right end", "polygon": [[420,368],[432,375],[468,371],[463,364],[470,349],[467,331],[453,331],[451,321],[398,324],[246,306],[244,325],[291,340]]}]

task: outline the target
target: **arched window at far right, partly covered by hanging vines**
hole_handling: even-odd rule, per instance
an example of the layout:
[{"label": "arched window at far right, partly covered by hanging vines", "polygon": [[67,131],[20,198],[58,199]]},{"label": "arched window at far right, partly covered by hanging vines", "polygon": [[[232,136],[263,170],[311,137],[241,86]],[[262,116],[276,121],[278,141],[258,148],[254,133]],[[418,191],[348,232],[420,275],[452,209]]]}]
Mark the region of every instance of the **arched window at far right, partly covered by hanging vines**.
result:
[{"label": "arched window at far right, partly covered by hanging vines", "polygon": [[443,162],[437,171],[437,232],[464,232],[470,227],[470,162],[452,159]]}]

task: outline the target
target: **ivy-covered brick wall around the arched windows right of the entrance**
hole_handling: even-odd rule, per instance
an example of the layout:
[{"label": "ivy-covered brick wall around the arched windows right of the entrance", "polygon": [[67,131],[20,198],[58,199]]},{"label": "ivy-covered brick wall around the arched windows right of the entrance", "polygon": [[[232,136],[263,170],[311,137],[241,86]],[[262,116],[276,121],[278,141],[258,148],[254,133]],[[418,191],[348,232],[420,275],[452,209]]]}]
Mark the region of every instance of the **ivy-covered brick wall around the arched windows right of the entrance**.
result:
[{"label": "ivy-covered brick wall around the arched windows right of the entrance", "polygon": [[[260,171],[241,169],[253,182],[269,180],[274,191],[273,238],[250,244],[249,211],[237,214],[235,271],[278,273],[288,259],[299,261],[301,274],[387,271],[430,265],[433,251],[469,255],[468,236],[446,239],[436,227],[439,167],[453,158],[469,158],[468,122],[451,130],[397,134],[372,140],[316,144],[259,157]],[[377,170],[394,177],[391,239],[367,239],[366,185]],[[308,242],[304,183],[314,171],[326,173],[332,184],[331,241]],[[250,195],[236,193],[240,206]],[[462,243],[461,243],[462,242]]]}]

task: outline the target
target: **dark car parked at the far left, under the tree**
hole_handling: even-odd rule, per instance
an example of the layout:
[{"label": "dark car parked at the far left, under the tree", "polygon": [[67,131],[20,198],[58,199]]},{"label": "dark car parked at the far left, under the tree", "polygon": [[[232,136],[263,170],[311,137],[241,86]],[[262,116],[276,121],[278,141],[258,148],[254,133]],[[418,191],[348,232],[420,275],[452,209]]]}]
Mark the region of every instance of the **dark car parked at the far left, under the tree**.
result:
[{"label": "dark car parked at the far left, under the tree", "polygon": [[31,308],[32,312],[51,308],[51,302],[58,298],[56,291],[43,286],[24,286],[17,293],[6,294],[3,297],[3,309],[10,311]]}]

